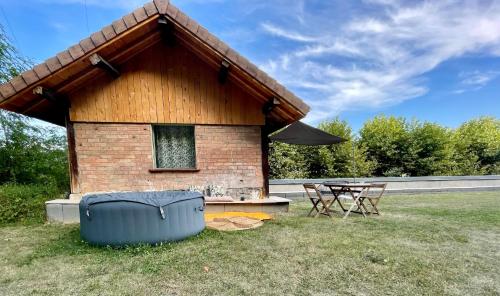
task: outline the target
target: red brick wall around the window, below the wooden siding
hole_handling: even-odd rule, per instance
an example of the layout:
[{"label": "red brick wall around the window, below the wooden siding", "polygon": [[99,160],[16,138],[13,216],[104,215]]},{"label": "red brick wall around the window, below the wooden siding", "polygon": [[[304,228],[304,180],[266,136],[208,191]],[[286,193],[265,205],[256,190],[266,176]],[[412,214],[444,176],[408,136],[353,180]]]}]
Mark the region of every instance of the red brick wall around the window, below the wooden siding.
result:
[{"label": "red brick wall around the window, below the wooden siding", "polygon": [[[195,128],[198,172],[151,173],[151,125],[75,123],[78,189],[73,193],[263,186],[259,126]],[[234,192],[234,190],[233,190]]]}]

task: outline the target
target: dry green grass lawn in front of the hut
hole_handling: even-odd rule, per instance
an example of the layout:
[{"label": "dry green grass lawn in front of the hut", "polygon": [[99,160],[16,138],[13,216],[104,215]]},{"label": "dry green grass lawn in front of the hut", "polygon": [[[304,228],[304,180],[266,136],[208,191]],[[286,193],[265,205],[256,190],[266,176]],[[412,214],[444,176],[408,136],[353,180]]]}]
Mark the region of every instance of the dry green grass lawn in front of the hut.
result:
[{"label": "dry green grass lawn in front of the hut", "polygon": [[500,192],[386,196],[381,217],[205,230],[159,247],[91,247],[78,226],[0,227],[0,295],[500,295]]}]

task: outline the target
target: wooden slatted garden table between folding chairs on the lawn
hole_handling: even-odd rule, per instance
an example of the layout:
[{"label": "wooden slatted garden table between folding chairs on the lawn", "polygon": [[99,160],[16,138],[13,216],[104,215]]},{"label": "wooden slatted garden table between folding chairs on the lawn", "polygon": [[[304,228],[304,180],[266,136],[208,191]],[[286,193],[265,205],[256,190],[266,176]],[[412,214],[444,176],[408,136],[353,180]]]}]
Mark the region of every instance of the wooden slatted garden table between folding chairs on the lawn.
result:
[{"label": "wooden slatted garden table between folding chairs on the lawn", "polygon": [[[325,182],[323,183],[323,186],[328,187],[332,192],[334,198],[331,205],[337,202],[342,211],[345,213],[344,218],[349,216],[351,212],[362,214],[363,217],[366,217],[367,214],[380,215],[380,212],[377,209],[377,204],[382,194],[384,194],[386,184]],[[368,192],[372,188],[381,189],[381,191],[376,196],[370,197],[368,196]],[[340,201],[342,197],[348,197],[353,200],[353,204],[349,207],[349,209],[346,209]],[[364,203],[365,200],[370,202],[370,211],[368,211]],[[353,210],[354,207],[357,207],[357,209]]]}]

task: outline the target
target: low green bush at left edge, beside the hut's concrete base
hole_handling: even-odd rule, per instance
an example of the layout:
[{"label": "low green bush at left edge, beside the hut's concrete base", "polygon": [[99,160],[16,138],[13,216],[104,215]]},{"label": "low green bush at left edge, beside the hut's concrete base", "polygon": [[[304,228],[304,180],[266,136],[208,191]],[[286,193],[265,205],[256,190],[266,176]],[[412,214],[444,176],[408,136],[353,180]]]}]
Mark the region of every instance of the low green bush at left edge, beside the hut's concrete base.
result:
[{"label": "low green bush at left edge, beside the hut's concrete base", "polygon": [[45,202],[60,198],[55,184],[0,186],[0,225],[9,223],[43,223]]}]

